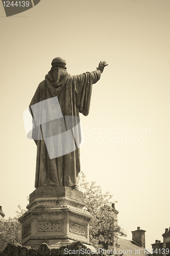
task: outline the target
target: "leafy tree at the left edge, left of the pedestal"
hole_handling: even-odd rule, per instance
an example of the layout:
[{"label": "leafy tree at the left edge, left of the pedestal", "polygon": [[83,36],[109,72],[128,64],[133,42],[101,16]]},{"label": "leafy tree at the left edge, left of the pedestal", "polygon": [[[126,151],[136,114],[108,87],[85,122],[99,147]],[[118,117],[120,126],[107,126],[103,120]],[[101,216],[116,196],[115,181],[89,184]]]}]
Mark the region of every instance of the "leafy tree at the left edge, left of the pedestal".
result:
[{"label": "leafy tree at the left edge, left of the pedestal", "polygon": [[14,218],[9,217],[8,220],[0,220],[0,239],[9,243],[21,243],[21,224],[18,218],[24,214],[26,210],[21,209],[18,205],[17,216]]}]

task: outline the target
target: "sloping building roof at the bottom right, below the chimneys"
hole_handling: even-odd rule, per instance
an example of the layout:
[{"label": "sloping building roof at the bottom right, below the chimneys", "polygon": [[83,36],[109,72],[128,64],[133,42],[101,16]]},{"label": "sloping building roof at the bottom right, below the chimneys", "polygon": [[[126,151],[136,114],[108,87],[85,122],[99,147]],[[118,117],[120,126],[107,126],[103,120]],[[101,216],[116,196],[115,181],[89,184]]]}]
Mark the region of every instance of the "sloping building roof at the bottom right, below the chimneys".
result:
[{"label": "sloping building roof at the bottom right, below the chimneys", "polygon": [[117,244],[119,248],[117,248],[117,254],[124,254],[127,256],[146,256],[146,254],[152,255],[151,253],[147,253],[147,250],[141,246],[139,246],[135,241],[130,241],[124,238],[118,238]]}]

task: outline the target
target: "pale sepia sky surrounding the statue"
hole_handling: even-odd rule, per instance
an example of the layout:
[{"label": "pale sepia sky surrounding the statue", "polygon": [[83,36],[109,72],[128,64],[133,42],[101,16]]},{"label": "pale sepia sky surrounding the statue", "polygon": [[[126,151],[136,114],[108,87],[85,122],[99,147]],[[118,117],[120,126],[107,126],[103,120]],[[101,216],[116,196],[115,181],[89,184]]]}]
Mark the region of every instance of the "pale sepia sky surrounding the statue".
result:
[{"label": "pale sepia sky surrounding the statue", "polygon": [[1,198],[5,218],[25,208],[35,181],[36,145],[23,112],[53,58],[78,75],[109,64],[81,115],[81,170],[118,201],[118,222],[146,248],[170,226],[169,0],[41,0],[1,26]]}]

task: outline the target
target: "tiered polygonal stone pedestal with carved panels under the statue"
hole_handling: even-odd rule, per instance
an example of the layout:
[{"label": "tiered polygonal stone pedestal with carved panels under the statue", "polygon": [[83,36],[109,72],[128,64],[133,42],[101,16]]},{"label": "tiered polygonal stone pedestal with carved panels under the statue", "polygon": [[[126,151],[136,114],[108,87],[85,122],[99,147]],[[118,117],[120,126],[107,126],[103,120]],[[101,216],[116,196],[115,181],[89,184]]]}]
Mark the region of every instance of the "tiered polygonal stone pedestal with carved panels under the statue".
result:
[{"label": "tiered polygonal stone pedestal with carved panels under the statue", "polygon": [[83,210],[83,193],[70,187],[38,187],[30,194],[28,211],[18,220],[22,224],[22,245],[38,248],[46,243],[59,248],[75,241],[89,243],[89,221]]}]

